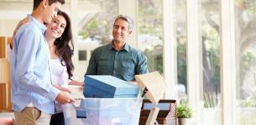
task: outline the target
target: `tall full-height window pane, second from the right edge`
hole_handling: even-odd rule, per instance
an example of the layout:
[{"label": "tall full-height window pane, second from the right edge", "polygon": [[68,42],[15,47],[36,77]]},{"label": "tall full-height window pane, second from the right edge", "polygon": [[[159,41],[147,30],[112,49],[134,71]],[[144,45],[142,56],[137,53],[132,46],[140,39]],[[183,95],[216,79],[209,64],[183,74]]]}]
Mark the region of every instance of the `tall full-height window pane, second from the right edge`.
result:
[{"label": "tall full-height window pane, second from the right edge", "polygon": [[201,0],[203,85],[201,123],[221,124],[220,15],[217,0]]}]

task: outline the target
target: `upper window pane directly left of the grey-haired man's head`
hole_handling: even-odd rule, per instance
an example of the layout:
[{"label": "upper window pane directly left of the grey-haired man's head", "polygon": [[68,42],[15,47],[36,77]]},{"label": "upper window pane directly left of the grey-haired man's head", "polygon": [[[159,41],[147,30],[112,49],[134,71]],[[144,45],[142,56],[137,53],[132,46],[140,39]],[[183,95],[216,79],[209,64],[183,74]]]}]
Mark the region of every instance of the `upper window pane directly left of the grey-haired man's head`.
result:
[{"label": "upper window pane directly left of the grey-haired man's head", "polygon": [[[112,41],[112,24],[118,15],[118,0],[84,0],[100,7],[98,12],[89,12],[81,20],[80,42],[107,44]],[[111,8],[111,9],[109,9]]]}]

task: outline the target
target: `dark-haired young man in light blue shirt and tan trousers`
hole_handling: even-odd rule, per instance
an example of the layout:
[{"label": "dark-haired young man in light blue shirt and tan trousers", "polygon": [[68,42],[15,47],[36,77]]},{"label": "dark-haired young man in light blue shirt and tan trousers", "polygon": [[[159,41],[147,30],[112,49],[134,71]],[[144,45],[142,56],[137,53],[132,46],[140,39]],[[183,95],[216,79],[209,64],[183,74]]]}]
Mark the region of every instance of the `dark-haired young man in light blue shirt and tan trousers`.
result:
[{"label": "dark-haired young man in light blue shirt and tan trousers", "polygon": [[18,28],[11,56],[12,103],[15,124],[50,124],[54,101],[73,102],[68,92],[53,87],[50,51],[44,38],[46,27],[65,0],[34,0],[29,23]]}]

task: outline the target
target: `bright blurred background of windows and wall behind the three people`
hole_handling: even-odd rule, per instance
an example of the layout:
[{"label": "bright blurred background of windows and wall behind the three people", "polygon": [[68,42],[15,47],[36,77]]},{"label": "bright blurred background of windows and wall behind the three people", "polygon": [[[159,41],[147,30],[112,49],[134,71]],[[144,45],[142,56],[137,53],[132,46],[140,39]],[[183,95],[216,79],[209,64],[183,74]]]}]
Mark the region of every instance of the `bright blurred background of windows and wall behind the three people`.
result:
[{"label": "bright blurred background of windows and wall behind the three people", "polygon": [[[0,0],[0,112],[10,112],[8,37],[32,6]],[[112,41],[114,18],[127,14],[135,23],[128,43],[165,77],[165,98],[189,103],[195,124],[256,123],[255,0],[65,0],[61,10],[71,17],[74,79],[83,81],[91,52]]]}]

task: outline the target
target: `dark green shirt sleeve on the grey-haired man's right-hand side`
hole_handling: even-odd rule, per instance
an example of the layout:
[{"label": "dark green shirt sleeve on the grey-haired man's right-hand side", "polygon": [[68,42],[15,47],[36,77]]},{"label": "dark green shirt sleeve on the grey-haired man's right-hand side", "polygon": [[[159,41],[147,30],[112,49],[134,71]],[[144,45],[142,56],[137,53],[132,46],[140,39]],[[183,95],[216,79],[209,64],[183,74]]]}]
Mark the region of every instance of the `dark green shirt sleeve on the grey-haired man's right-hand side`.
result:
[{"label": "dark green shirt sleeve on the grey-haired man's right-hand side", "polygon": [[147,66],[147,57],[143,52],[138,52],[138,66],[135,69],[136,74],[144,74],[149,72]]}]

